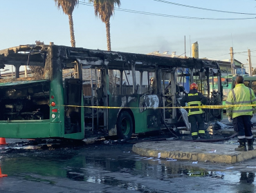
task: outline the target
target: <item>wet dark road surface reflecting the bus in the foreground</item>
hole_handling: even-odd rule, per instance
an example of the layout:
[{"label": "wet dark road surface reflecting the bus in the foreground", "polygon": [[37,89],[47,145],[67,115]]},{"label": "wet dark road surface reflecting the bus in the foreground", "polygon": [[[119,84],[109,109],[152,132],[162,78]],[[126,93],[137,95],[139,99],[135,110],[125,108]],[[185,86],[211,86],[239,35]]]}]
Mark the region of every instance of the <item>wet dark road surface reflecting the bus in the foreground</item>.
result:
[{"label": "wet dark road surface reflecting the bus in the foreground", "polygon": [[255,192],[255,159],[193,163],[140,156],[132,146],[2,149],[0,192]]}]

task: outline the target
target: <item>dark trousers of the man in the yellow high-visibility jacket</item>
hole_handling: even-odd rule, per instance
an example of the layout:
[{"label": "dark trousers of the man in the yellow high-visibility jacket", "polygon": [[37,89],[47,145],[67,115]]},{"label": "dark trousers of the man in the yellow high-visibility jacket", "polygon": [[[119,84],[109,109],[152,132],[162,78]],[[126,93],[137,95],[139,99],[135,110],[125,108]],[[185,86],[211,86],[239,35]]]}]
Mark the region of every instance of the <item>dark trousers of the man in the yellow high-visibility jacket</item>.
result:
[{"label": "dark trousers of the man in the yellow high-visibility jacket", "polygon": [[233,119],[233,126],[239,139],[251,139],[253,136],[252,123],[250,122],[250,115],[237,116]]}]

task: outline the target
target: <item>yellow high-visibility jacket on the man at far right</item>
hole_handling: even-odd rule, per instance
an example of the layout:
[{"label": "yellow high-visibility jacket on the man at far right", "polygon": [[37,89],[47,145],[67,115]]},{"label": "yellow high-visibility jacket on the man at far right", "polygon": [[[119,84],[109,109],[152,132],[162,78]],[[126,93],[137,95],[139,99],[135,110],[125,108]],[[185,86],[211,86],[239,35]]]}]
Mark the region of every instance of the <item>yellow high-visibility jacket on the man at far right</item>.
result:
[{"label": "yellow high-visibility jacket on the man at far right", "polygon": [[[235,88],[230,90],[228,93],[228,99],[226,100],[226,105],[237,105],[235,107],[229,107],[227,109],[227,116],[234,119],[241,115],[250,115],[256,112],[255,106],[256,99],[255,94],[252,89],[246,87],[243,83],[235,85]],[[249,106],[246,106],[249,105]]]}]

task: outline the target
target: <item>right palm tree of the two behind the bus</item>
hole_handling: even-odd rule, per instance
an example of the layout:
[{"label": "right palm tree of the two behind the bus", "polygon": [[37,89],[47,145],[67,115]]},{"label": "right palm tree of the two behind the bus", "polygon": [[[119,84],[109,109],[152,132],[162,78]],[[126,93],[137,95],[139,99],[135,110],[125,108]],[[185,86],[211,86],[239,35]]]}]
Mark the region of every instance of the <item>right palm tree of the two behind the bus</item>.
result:
[{"label": "right palm tree of the two behind the bus", "polygon": [[109,19],[113,15],[114,8],[117,5],[120,7],[120,0],[89,0],[93,3],[95,16],[100,17],[102,22],[106,25],[107,31],[107,50],[111,51],[111,40],[110,40],[110,23]]}]

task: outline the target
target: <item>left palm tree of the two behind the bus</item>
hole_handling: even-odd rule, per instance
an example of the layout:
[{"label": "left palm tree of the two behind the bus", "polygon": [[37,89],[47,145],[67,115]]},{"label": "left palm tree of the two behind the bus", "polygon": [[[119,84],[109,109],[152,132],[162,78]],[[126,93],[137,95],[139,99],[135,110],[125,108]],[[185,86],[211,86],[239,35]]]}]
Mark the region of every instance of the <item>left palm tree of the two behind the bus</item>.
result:
[{"label": "left palm tree of the two behind the bus", "polygon": [[75,6],[79,3],[79,0],[54,0],[57,8],[62,8],[64,14],[68,15],[69,20],[69,30],[71,36],[71,46],[75,47],[75,34],[73,25],[73,10]]}]

